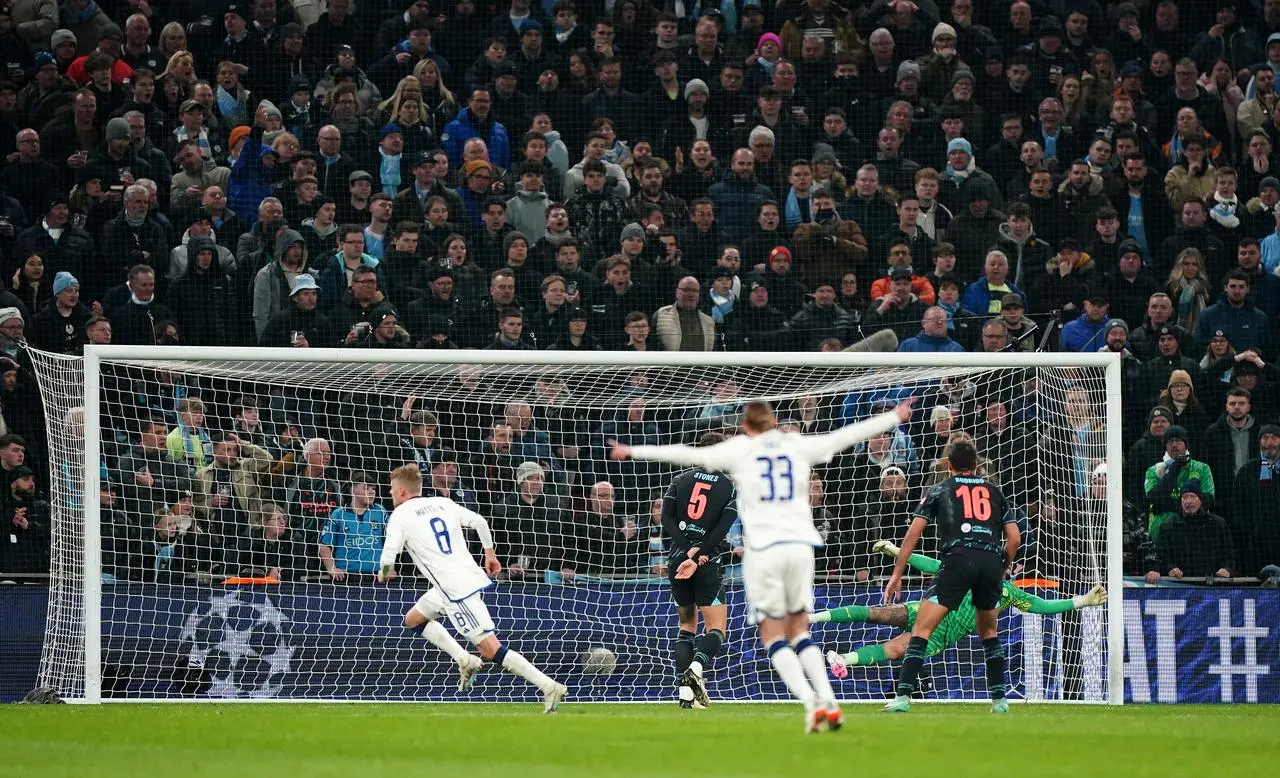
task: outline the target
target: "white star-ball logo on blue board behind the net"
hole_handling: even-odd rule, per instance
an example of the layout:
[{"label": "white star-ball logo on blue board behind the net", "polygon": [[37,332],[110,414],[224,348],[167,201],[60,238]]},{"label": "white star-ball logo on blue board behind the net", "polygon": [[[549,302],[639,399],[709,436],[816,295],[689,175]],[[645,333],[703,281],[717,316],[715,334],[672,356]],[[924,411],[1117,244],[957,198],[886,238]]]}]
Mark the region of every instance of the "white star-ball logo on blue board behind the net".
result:
[{"label": "white star-ball logo on blue board behind the net", "polygon": [[271,599],[241,599],[239,591],[209,598],[183,623],[182,640],[191,668],[207,673],[210,697],[269,699],[280,694],[297,650],[284,630],[288,617]]}]

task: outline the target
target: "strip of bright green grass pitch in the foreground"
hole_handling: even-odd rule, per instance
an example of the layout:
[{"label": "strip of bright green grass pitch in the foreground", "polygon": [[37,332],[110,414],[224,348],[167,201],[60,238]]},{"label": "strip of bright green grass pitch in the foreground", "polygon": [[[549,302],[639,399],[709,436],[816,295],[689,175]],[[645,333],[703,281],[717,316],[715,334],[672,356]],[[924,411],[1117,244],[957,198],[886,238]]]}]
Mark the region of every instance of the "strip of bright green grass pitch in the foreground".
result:
[{"label": "strip of bright green grass pitch in the foreground", "polygon": [[1271,774],[1280,706],[104,705],[0,709],[0,775]]}]

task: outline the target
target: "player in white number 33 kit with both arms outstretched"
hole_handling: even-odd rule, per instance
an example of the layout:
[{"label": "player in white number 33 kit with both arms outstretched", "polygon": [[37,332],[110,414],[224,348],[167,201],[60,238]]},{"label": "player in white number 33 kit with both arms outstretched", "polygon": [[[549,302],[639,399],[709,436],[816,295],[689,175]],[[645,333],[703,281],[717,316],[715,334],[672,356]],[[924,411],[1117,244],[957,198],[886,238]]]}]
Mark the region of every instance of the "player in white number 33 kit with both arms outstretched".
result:
[{"label": "player in white number 33 kit with both arms outstretched", "polygon": [[822,649],[809,639],[813,549],[822,545],[809,504],[809,471],[850,445],[906,422],[913,402],[826,435],[782,433],[768,403],[751,402],[742,415],[745,434],[708,448],[609,441],[613,459],[705,467],[733,479],[748,607],[773,669],[805,705],[805,732],[838,729],[845,720],[827,679]]}]

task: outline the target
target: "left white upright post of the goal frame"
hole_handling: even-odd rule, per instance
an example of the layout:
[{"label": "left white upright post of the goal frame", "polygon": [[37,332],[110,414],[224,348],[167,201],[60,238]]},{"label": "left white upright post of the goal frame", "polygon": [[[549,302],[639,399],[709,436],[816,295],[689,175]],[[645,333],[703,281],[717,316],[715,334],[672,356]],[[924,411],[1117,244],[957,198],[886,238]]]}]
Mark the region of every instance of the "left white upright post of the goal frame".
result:
[{"label": "left white upright post of the goal frame", "polygon": [[[102,701],[101,361],[84,349],[84,701]],[[61,473],[55,473],[60,477]]]}]

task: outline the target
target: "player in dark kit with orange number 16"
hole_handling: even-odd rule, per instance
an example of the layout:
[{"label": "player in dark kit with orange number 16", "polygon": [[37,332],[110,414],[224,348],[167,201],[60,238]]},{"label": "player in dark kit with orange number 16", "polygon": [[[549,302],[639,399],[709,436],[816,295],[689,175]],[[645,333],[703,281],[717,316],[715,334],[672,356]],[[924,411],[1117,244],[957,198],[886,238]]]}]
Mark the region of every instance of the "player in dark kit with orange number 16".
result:
[{"label": "player in dark kit with orange number 16", "polygon": [[[924,535],[934,525],[942,549],[942,569],[915,617],[911,642],[906,646],[902,668],[897,674],[897,696],[884,710],[906,713],[911,709],[911,692],[924,664],[929,637],[942,618],[960,607],[973,592],[978,617],[978,636],[987,659],[987,691],[991,711],[1009,713],[1005,701],[1005,649],[996,637],[996,615],[1005,571],[1014,562],[1021,540],[1014,517],[1006,511],[1000,488],[975,475],[978,449],[972,443],[956,443],[947,457],[951,477],[929,490],[915,509],[915,521],[902,539],[902,552],[893,563],[893,575],[884,586],[884,601],[896,601],[902,589],[902,569]],[[1004,559],[1001,559],[1004,553]]]}]

